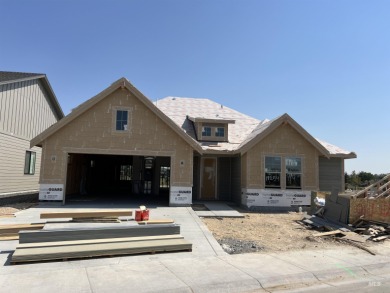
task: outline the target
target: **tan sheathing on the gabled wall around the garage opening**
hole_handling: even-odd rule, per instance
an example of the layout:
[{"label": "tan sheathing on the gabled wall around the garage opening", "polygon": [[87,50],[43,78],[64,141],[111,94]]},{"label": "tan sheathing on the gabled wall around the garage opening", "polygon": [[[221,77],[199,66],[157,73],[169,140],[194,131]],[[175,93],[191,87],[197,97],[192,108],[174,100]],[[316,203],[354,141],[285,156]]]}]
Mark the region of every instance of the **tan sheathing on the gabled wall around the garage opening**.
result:
[{"label": "tan sheathing on the gabled wall around the garage opening", "polygon": [[[45,158],[41,183],[64,183],[67,153],[89,153],[171,157],[171,184],[192,186],[192,168],[188,167],[192,166],[196,145],[194,142],[190,145],[191,138],[186,141],[184,133],[178,135],[183,131],[175,131],[170,125],[172,121],[158,116],[157,108],[153,112],[150,107],[155,106],[150,101],[150,107],[144,102],[131,91],[119,88],[79,115],[70,114],[75,117],[67,118],[66,124],[58,124],[55,132],[41,137]],[[113,111],[118,107],[129,110],[129,130],[123,133],[114,130]],[[34,142],[38,144],[39,137]],[[197,148],[200,150],[199,146]]]}]

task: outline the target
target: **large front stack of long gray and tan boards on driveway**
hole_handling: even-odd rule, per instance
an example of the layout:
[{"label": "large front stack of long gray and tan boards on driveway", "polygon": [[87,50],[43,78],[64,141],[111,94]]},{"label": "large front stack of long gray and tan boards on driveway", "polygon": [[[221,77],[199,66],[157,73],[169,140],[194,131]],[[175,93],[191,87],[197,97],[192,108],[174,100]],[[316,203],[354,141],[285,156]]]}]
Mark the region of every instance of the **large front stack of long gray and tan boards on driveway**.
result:
[{"label": "large front stack of long gray and tan boards on driveway", "polygon": [[21,231],[11,263],[191,251],[178,225]]}]

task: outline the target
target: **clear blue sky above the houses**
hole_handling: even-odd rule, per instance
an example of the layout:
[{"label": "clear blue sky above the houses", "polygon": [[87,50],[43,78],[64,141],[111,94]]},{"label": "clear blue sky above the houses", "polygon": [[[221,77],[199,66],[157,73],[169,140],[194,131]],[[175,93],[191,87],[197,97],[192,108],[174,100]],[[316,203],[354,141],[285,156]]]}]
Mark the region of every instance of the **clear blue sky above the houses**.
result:
[{"label": "clear blue sky above the houses", "polygon": [[390,173],[390,1],[0,0],[0,70],[44,73],[65,114],[121,77],[149,99],[288,113]]}]

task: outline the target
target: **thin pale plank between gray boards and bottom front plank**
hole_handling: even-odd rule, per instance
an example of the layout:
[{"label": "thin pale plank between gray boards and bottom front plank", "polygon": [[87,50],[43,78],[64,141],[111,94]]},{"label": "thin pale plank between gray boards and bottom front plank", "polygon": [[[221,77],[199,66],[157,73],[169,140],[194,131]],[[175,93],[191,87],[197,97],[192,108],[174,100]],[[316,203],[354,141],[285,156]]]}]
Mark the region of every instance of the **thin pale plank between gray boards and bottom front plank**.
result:
[{"label": "thin pale plank between gray boards and bottom front plank", "polygon": [[157,235],[144,237],[124,237],[124,238],[107,238],[107,239],[91,239],[91,240],[75,240],[75,241],[56,241],[56,242],[38,242],[18,244],[17,249],[38,248],[38,247],[54,247],[54,246],[72,246],[72,245],[88,245],[88,244],[103,244],[117,242],[134,242],[134,241],[150,241],[162,239],[184,239],[184,236],[177,235]]}]

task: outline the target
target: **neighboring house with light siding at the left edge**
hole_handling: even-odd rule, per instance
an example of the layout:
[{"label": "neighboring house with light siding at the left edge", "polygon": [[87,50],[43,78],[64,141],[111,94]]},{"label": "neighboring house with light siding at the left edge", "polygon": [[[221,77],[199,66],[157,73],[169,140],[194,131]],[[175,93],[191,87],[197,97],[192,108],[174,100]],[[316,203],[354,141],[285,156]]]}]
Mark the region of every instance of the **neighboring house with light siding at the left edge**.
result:
[{"label": "neighboring house with light siding at the left edge", "polygon": [[42,150],[30,140],[63,117],[45,74],[0,71],[0,198],[38,192]]}]

